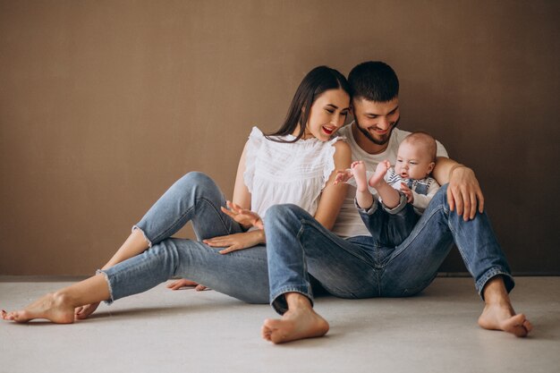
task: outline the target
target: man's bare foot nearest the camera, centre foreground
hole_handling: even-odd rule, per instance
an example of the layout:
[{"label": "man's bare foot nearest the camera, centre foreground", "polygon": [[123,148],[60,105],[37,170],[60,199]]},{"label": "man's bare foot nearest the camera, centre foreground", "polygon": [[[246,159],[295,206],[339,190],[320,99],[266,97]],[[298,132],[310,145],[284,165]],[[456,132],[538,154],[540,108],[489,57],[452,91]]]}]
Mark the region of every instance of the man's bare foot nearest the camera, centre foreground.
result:
[{"label": "man's bare foot nearest the camera, centre foreground", "polygon": [[281,319],[265,320],[261,328],[264,339],[272,343],[286,343],[327,334],[329,327],[327,320],[311,308],[310,301],[306,297],[297,295],[302,298],[297,300],[301,302],[301,307],[290,307],[294,302],[288,301],[289,309]]}]

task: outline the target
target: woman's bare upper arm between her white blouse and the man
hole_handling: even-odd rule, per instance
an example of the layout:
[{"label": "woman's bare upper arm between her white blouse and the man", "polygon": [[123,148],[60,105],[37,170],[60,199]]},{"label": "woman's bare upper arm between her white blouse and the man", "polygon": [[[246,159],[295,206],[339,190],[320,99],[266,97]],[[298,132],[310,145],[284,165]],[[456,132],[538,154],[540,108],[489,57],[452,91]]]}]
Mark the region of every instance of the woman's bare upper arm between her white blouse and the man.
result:
[{"label": "woman's bare upper arm between her white blouse and the man", "polygon": [[338,170],[345,170],[350,167],[352,161],[352,151],[350,146],[344,141],[335,142],[335,170],[330,174],[327,184],[321,193],[321,199],[318,202],[315,218],[328,230],[335,225],[338,211],[343,206],[344,198],[348,185],[346,183],[337,183],[335,185],[336,174]]}]

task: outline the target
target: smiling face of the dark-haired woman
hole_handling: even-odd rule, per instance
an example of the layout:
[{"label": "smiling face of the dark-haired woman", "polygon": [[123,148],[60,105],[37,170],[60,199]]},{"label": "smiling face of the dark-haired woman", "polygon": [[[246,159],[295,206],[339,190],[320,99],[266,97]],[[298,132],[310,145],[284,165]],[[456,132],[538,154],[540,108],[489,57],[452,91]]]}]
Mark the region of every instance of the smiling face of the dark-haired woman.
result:
[{"label": "smiling face of the dark-haired woman", "polygon": [[349,106],[350,96],[344,89],[323,92],[311,105],[303,139],[329,140],[344,125]]}]

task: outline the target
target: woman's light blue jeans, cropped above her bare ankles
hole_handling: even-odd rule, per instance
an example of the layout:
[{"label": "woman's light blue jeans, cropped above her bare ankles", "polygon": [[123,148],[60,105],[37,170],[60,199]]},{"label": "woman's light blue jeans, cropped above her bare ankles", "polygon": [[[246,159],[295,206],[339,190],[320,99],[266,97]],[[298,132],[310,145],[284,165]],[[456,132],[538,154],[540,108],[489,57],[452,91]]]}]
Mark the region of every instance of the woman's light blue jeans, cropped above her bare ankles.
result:
[{"label": "woman's light blue jeans, cropped above her bare ankles", "polygon": [[100,271],[109,284],[111,301],[145,292],[173,276],[181,276],[250,303],[267,303],[267,250],[264,246],[220,254],[199,241],[170,238],[189,221],[199,240],[241,233],[226,216],[222,192],[207,175],[190,173],[165,191],[134,229],[149,249]]}]

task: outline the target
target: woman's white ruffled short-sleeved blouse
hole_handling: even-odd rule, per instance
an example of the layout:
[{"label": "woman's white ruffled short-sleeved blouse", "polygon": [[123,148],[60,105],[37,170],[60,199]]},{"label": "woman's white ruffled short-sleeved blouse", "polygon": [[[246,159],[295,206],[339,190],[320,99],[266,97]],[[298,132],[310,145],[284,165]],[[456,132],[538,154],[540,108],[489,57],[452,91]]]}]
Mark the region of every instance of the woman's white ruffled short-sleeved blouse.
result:
[{"label": "woman's white ruffled short-sleeved blouse", "polygon": [[[293,140],[295,137],[287,135],[282,139]],[[314,216],[321,191],[335,169],[334,144],[342,139],[276,142],[268,140],[257,127],[253,127],[243,174],[251,193],[251,210],[264,217],[273,205],[293,203]]]}]

